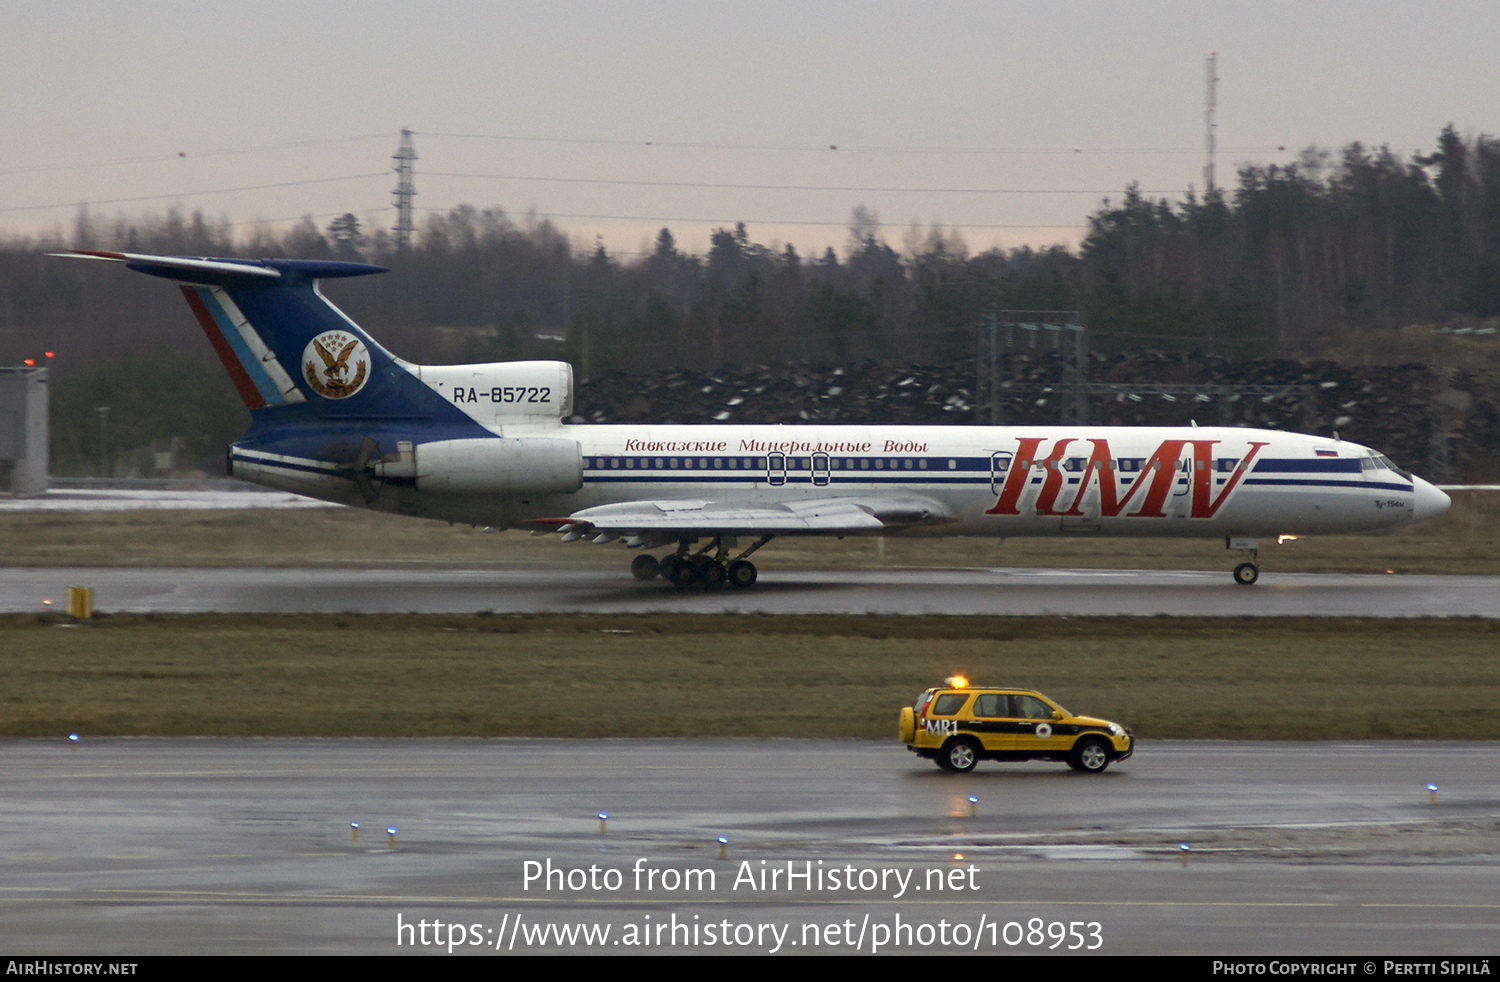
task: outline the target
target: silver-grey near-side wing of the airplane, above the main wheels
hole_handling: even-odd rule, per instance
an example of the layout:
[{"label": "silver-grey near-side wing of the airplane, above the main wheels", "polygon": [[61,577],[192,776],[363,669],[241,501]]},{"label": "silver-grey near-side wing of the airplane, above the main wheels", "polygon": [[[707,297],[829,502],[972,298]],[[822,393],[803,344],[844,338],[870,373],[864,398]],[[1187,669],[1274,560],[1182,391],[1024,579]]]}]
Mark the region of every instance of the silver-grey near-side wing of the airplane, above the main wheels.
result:
[{"label": "silver-grey near-side wing of the airplane, above the main wheels", "polygon": [[844,535],[951,520],[942,505],[924,498],[824,498],[788,502],[632,501],[584,508],[567,519],[531,525],[550,526],[568,538],[674,540],[696,535]]}]

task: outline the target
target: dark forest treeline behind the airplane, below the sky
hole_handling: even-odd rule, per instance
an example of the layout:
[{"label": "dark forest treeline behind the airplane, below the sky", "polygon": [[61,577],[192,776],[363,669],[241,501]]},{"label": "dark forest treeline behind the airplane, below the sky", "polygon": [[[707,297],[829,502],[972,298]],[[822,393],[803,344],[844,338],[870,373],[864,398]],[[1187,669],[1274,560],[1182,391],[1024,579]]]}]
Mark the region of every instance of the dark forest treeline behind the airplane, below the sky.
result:
[{"label": "dark forest treeline behind the airplane, below the sky", "polygon": [[908,229],[894,244],[886,232],[860,205],[843,253],[804,256],[738,225],[717,229],[705,255],[681,250],[663,228],[645,255],[624,256],[579,249],[546,219],[464,205],[429,216],[398,252],[352,214],[278,234],[236,232],[202,213],[105,219],[84,207],[64,235],[0,243],[0,363],[56,351],[58,399],[80,408],[102,405],[106,379],[150,366],[189,376],[158,391],[180,385],[207,400],[226,388],[202,370],[212,354],[177,291],[44,258],[57,247],[387,265],[326,292],[424,363],[558,357],[585,376],[936,363],[972,354],[970,325],[993,309],[1083,310],[1102,354],[1286,355],[1335,333],[1500,315],[1500,139],[1448,126],[1431,153],[1410,159],[1360,144],[1310,148],[1180,202],[1130,186],[1089,217],[1077,252],[970,255],[954,231]]}]

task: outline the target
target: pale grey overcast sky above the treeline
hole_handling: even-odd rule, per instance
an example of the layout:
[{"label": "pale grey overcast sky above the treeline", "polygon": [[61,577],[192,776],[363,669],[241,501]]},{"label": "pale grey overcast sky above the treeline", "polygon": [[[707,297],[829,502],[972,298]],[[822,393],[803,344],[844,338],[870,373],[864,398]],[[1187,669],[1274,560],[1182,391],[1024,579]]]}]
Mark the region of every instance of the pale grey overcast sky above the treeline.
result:
[{"label": "pale grey overcast sky above the treeline", "polygon": [[1210,51],[1220,184],[1310,144],[1500,133],[1496,0],[0,0],[0,19],[4,237],[80,202],[388,228],[406,126],[418,208],[534,211],[580,249],[668,225],[702,252],[744,220],[810,255],[856,204],[897,249],[914,222],[974,252],[1074,246],[1128,181],[1202,190]]}]

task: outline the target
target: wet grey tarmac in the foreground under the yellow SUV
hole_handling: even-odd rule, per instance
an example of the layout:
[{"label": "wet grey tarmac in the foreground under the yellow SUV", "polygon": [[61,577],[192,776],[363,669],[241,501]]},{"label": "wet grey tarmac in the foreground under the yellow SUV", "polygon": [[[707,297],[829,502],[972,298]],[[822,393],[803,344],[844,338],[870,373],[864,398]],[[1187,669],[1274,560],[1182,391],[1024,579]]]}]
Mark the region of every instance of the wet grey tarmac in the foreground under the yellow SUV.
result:
[{"label": "wet grey tarmac in the foreground under the yellow SUV", "polygon": [[[1144,742],[1104,775],[951,775],[894,741],[86,735],[0,754],[0,930],[28,952],[1500,948],[1492,744]],[[574,925],[592,940],[560,942]]]}]

